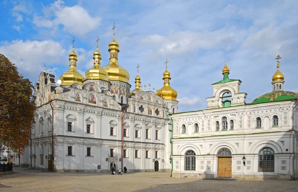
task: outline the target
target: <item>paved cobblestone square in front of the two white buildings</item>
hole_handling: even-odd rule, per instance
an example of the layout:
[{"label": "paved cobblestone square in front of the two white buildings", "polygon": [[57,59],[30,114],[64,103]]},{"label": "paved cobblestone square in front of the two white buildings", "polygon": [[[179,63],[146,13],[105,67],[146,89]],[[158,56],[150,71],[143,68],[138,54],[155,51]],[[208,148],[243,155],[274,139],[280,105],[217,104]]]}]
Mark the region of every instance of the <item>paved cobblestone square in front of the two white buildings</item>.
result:
[{"label": "paved cobblestone square in front of the two white buildings", "polygon": [[52,173],[14,168],[0,176],[1,192],[298,192],[298,181],[210,181],[169,173]]}]

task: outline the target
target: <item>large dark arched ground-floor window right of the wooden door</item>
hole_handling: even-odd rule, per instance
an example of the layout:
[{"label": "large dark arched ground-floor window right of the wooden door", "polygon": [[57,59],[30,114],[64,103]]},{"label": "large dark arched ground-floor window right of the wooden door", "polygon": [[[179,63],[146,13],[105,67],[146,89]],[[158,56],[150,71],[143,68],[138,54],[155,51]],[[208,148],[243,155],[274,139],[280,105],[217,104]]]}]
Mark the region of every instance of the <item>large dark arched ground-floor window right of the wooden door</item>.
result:
[{"label": "large dark arched ground-floor window right of the wooden door", "polygon": [[259,152],[259,172],[274,172],[274,150],[270,147]]}]

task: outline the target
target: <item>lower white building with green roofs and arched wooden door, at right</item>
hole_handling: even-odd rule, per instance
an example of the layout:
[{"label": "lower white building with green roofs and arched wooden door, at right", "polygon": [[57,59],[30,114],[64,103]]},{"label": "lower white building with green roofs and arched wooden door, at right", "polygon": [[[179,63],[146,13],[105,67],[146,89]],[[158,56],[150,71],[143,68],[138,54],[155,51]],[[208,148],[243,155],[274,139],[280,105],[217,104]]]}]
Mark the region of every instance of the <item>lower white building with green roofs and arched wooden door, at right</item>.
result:
[{"label": "lower white building with green roofs and arched wooden door, at right", "polygon": [[225,63],[207,109],[170,114],[173,177],[297,179],[298,93],[284,91],[276,59],[272,92],[251,103]]}]

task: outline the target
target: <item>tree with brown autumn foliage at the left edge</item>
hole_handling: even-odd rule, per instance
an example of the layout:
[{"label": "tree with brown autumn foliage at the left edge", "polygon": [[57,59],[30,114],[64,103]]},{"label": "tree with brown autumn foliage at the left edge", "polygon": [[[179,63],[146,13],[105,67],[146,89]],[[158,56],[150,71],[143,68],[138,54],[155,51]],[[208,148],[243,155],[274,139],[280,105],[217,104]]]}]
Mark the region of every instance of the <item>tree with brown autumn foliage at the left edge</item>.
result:
[{"label": "tree with brown autumn foliage at the left edge", "polygon": [[29,79],[0,54],[0,143],[23,154],[34,123],[35,97]]}]

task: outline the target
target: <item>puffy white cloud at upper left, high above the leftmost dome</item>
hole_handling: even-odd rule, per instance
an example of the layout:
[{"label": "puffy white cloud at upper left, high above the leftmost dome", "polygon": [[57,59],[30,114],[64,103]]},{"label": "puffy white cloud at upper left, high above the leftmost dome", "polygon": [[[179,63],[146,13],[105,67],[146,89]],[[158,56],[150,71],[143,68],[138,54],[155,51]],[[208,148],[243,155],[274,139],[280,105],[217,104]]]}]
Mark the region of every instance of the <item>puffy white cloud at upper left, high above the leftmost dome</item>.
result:
[{"label": "puffy white cloud at upper left, high above the leftmost dome", "polygon": [[[63,25],[63,29],[75,36],[84,36],[100,24],[100,17],[92,17],[79,5],[65,6],[64,1],[57,0],[43,10],[44,16],[34,15],[33,23],[38,27],[51,28]],[[52,18],[54,17],[54,18]]]}]

